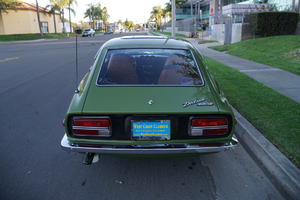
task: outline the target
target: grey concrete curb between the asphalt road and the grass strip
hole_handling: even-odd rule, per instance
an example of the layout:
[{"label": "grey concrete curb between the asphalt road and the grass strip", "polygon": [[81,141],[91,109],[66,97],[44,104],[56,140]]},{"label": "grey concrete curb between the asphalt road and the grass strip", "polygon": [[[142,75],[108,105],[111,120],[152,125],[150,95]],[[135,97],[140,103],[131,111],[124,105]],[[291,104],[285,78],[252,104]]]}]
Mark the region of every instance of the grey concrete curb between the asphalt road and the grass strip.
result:
[{"label": "grey concrete curb between the asphalt road and the grass strip", "polygon": [[252,159],[286,199],[300,199],[300,169],[233,107],[234,134]]}]

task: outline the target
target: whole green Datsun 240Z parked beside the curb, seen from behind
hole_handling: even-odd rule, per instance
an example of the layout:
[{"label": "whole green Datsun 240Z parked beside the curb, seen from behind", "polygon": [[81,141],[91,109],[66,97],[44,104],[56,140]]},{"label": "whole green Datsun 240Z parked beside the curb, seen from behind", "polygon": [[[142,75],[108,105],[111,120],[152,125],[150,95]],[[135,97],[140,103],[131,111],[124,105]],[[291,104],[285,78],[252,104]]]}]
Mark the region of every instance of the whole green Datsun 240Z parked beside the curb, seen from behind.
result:
[{"label": "whole green Datsun 240Z parked beside the curb, seen from behind", "polygon": [[235,118],[188,41],[124,36],[104,43],[68,107],[61,147],[117,156],[234,149]]}]

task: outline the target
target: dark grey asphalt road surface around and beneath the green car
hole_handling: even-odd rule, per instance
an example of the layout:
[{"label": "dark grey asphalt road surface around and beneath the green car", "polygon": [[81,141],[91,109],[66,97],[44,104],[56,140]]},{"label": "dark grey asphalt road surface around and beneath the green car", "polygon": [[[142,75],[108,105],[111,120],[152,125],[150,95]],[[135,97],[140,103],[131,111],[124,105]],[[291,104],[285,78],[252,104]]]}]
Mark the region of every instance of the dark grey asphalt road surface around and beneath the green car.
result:
[{"label": "dark grey asphalt road surface around and beneath the green car", "polygon": [[[78,82],[103,42],[129,34],[146,33],[79,37]],[[283,199],[241,145],[191,157],[100,156],[91,165],[63,151],[75,52],[75,38],[0,43],[0,199]]]}]

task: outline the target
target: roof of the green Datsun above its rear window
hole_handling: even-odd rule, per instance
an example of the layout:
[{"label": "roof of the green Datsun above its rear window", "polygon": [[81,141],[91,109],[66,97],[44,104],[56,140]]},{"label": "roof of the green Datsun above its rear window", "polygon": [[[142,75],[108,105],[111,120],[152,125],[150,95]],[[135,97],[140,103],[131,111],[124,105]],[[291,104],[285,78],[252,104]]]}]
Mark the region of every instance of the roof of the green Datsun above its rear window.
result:
[{"label": "roof of the green Datsun above its rear window", "polygon": [[166,37],[166,36],[147,36],[131,35],[122,36],[106,41],[103,48],[122,48],[122,47],[174,47],[190,49],[193,45],[185,39]]}]

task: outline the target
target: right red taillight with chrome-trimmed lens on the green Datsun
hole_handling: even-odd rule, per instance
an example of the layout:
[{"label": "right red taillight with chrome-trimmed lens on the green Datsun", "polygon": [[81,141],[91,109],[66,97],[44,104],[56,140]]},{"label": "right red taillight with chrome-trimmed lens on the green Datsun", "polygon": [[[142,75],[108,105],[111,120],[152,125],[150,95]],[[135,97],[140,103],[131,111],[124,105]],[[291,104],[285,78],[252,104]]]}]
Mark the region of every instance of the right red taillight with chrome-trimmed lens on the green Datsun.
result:
[{"label": "right red taillight with chrome-trimmed lens on the green Datsun", "polygon": [[228,121],[223,117],[192,117],[189,123],[190,135],[224,134],[228,130]]}]

